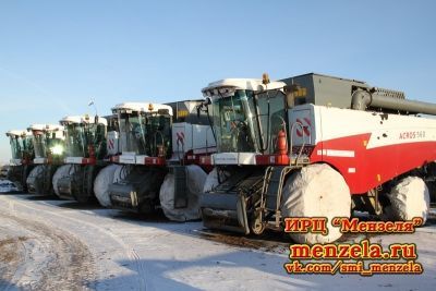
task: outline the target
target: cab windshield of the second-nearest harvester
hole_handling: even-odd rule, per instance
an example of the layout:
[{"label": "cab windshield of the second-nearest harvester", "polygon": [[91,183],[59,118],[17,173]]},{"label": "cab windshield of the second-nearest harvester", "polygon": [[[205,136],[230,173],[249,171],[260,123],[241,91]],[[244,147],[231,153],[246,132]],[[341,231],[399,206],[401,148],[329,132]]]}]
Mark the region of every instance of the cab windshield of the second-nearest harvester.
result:
[{"label": "cab windshield of the second-nearest harvester", "polygon": [[171,154],[171,117],[133,111],[119,113],[121,150],[137,155]]}]

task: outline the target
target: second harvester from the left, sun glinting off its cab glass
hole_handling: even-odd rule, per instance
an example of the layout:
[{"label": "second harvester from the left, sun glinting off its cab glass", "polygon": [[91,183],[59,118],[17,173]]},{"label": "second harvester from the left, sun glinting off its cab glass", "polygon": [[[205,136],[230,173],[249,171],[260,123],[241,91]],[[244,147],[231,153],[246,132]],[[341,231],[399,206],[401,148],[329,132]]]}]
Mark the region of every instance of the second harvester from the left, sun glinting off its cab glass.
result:
[{"label": "second harvester from the left, sun glinting off its cab glass", "polygon": [[27,190],[39,195],[55,194],[52,178],[63,163],[65,134],[58,124],[32,124],[28,132],[33,135],[35,148],[35,168],[27,177]]}]

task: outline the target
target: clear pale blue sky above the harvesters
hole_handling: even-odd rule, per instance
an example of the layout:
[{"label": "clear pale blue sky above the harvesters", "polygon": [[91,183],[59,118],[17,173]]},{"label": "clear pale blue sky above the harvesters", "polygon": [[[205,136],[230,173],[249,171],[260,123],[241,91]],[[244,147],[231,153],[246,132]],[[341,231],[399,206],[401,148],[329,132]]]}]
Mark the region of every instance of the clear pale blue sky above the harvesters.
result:
[{"label": "clear pale blue sky above the harvesters", "polygon": [[436,101],[436,1],[1,1],[4,132],[122,101],[201,98],[225,77],[307,72]]}]

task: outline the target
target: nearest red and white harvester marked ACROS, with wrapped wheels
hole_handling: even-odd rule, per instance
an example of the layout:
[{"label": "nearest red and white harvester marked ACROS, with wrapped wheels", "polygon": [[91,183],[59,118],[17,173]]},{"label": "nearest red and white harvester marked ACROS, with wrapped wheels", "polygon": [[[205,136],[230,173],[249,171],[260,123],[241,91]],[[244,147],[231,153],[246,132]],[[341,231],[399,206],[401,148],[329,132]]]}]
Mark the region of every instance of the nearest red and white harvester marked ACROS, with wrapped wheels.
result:
[{"label": "nearest red and white harvester marked ACROS, with wrapped wheels", "polygon": [[[217,137],[217,154],[202,159],[215,167],[202,197],[205,227],[261,234],[282,231],[286,217],[326,217],[327,235],[291,234],[324,243],[341,237],[332,217],[351,209],[392,220],[414,211],[425,221],[436,120],[416,114],[436,114],[436,105],[318,74],[222,80],[203,94]],[[399,185],[417,207],[399,206]]]}]

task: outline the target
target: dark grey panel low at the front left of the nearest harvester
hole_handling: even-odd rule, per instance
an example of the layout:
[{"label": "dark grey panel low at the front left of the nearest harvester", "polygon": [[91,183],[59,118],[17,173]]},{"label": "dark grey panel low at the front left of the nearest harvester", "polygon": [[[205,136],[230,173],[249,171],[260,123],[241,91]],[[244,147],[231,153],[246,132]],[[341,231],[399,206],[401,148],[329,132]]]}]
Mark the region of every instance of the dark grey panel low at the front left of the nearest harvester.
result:
[{"label": "dark grey panel low at the front left of the nearest harvester", "polygon": [[244,195],[205,193],[201,211],[206,228],[250,233]]}]

